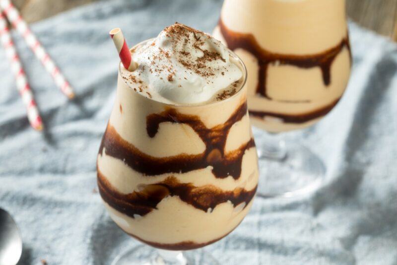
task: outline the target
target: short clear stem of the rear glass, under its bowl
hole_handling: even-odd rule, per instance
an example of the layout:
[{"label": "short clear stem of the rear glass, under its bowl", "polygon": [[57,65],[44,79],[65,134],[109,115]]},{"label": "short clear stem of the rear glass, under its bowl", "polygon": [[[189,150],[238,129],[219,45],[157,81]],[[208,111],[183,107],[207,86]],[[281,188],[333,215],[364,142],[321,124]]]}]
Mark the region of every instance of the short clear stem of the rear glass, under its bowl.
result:
[{"label": "short clear stem of the rear glass, under its bowl", "polygon": [[265,133],[263,144],[257,149],[259,158],[281,161],[287,156],[285,141],[280,139],[278,133]]}]

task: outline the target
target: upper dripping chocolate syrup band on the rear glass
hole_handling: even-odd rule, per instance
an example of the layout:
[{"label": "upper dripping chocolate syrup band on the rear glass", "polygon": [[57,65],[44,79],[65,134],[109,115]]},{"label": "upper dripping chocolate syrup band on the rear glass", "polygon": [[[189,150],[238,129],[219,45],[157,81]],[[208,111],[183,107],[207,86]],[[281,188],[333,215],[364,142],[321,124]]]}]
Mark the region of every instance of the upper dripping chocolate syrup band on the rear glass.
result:
[{"label": "upper dripping chocolate syrup band on the rear glass", "polygon": [[272,100],[266,91],[267,68],[269,64],[278,62],[280,65],[291,65],[300,68],[312,68],[318,66],[321,68],[324,84],[328,86],[331,83],[332,62],[344,47],[348,49],[351,58],[347,34],[347,37],[342,39],[335,47],[322,53],[313,55],[286,55],[272,53],[263,49],[255,39],[254,35],[251,33],[232,31],[225,26],[222,19],[219,19],[219,28],[229,49],[233,51],[238,48],[244,49],[257,58],[259,64],[257,94],[260,94],[269,100]]}]

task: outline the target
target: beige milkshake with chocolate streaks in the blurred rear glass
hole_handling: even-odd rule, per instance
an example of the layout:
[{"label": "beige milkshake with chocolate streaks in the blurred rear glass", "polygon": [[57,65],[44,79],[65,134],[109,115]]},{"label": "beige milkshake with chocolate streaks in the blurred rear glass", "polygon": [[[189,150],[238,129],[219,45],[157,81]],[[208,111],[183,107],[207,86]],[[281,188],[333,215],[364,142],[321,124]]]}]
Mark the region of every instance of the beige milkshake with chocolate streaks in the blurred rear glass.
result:
[{"label": "beige milkshake with chocolate streaks in the blurred rear glass", "polygon": [[225,0],[213,36],[247,66],[251,120],[268,132],[317,122],[346,88],[345,0]]}]

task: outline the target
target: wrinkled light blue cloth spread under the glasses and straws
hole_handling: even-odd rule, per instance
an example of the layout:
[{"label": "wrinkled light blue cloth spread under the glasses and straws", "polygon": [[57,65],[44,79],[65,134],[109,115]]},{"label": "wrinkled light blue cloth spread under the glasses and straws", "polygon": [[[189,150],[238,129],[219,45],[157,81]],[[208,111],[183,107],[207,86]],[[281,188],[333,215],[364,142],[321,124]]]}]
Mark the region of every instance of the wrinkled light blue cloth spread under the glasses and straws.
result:
[{"label": "wrinkled light blue cloth spread under the glasses and straws", "polygon": [[[20,226],[19,264],[107,265],[139,244],[111,221],[96,191],[119,61],[108,31],[121,27],[130,45],[175,21],[211,32],[221,4],[100,1],[32,24],[74,86],[74,101],[12,33],[46,126],[30,128],[0,50],[0,207]],[[354,66],[342,100],[316,126],[286,135],[321,157],[324,185],[311,196],[257,198],[234,232],[205,247],[220,264],[397,264],[397,47],[349,28]]]}]

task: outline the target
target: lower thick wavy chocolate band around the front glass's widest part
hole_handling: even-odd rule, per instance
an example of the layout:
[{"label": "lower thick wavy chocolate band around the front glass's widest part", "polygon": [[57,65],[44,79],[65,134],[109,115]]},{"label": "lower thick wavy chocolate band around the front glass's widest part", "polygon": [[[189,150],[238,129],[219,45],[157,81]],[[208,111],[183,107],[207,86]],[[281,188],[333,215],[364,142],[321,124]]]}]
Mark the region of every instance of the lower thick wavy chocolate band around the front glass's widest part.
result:
[{"label": "lower thick wavy chocolate band around the front glass's widest part", "polygon": [[233,191],[222,191],[213,186],[206,185],[195,187],[191,183],[180,183],[174,176],[167,177],[164,181],[141,185],[139,191],[130,194],[118,192],[98,170],[99,193],[111,207],[135,218],[135,214],[145,215],[156,209],[157,204],[167,196],[178,196],[182,201],[204,212],[212,210],[216,205],[230,201],[233,206],[248,203],[254,198],[257,187],[251,191],[236,188]]}]

